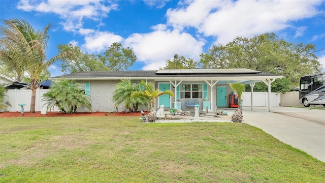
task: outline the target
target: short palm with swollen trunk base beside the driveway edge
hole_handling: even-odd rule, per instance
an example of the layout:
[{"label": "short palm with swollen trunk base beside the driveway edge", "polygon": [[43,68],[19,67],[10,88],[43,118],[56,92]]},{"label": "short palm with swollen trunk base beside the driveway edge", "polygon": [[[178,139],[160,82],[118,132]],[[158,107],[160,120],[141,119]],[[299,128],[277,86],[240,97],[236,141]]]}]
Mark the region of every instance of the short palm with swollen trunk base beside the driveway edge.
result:
[{"label": "short palm with swollen trunk base beside the driveway edge", "polygon": [[245,85],[243,85],[242,83],[234,83],[234,84],[229,83],[229,84],[230,84],[230,87],[232,87],[232,89],[234,90],[234,92],[236,92],[238,95],[238,108],[232,115],[232,121],[235,123],[242,123],[243,112],[241,109],[241,101],[242,101],[243,93],[245,91]]}]

